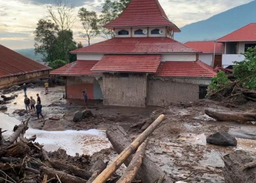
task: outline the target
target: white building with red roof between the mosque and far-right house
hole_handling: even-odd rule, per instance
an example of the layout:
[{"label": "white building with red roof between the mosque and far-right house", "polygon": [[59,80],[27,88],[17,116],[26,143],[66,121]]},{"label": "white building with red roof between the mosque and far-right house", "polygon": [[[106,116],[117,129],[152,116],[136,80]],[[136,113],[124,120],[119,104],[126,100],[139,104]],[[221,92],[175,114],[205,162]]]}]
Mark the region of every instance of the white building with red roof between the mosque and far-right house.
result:
[{"label": "white building with red roof between the mosque and far-right house", "polygon": [[201,53],[198,53],[198,59],[207,65],[213,68],[222,66],[223,43],[216,43],[215,41],[189,41],[184,44],[192,49],[201,51]]}]

